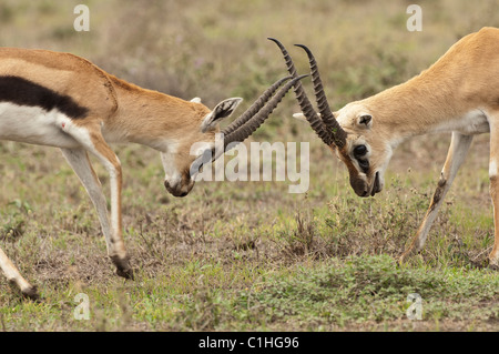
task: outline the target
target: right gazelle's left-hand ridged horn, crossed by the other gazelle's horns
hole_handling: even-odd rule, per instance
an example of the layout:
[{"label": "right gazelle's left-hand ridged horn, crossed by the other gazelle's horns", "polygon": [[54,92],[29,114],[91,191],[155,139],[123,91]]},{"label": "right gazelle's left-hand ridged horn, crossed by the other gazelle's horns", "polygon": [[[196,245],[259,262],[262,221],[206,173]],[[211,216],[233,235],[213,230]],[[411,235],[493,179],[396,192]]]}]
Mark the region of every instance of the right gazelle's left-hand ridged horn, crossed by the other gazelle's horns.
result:
[{"label": "right gazelle's left-hand ridged horn, crossed by the other gazelle's horns", "polygon": [[[284,60],[286,61],[286,68],[289,74],[293,77],[296,77],[296,68],[293,63],[293,59],[291,58],[289,53],[287,52],[286,48],[275,38],[268,38],[271,41],[277,44],[277,47],[281,49],[281,52],[284,55]],[[326,129],[326,125],[324,125],[323,121],[318,117],[318,114],[315,112],[314,108],[312,107],[310,101],[308,100],[307,95],[305,94],[305,91],[303,89],[303,85],[301,82],[298,82],[295,85],[295,95],[296,100],[298,101],[299,108],[302,109],[303,114],[307,119],[308,123],[310,123],[312,129],[317,133],[317,135],[327,144],[330,145],[334,141],[333,134]]]}]

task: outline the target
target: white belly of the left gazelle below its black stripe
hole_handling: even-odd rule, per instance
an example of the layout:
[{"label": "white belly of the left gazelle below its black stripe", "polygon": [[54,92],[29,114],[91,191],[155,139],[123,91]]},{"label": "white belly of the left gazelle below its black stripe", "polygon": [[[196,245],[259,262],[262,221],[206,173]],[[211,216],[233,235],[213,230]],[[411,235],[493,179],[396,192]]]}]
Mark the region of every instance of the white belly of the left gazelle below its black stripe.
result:
[{"label": "white belly of the left gazelle below its black stripe", "polygon": [[55,109],[47,112],[39,107],[0,102],[0,140],[78,148],[79,143],[62,131],[63,124],[68,123],[71,119]]}]

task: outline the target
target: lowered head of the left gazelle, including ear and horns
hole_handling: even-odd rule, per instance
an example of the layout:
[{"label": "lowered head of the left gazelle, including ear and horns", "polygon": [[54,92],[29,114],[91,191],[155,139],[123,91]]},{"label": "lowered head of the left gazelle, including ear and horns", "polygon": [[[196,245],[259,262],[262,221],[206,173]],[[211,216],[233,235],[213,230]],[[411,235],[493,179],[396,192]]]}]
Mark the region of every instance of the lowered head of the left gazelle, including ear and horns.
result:
[{"label": "lowered head of the left gazelle, including ear and horns", "polygon": [[[193,120],[196,125],[189,132],[184,131],[184,136],[181,136],[175,143],[170,143],[166,151],[161,154],[166,190],[174,196],[187,195],[194,186],[194,178],[203,164],[214,161],[226,151],[226,148],[232,149],[253,134],[271,115],[287,91],[305,77],[287,77],[278,80],[222,131],[220,130],[220,122],[234,112],[242,99],[224,100],[216,104],[213,110],[202,104],[200,99],[193,99],[191,105],[198,115],[197,120]],[[286,81],[288,82],[284,84]],[[279,87],[282,87],[281,90],[275,93]],[[215,154],[217,151],[215,149],[217,133],[222,133],[224,136],[222,153],[218,153],[218,155]]]}]

